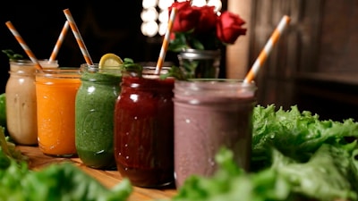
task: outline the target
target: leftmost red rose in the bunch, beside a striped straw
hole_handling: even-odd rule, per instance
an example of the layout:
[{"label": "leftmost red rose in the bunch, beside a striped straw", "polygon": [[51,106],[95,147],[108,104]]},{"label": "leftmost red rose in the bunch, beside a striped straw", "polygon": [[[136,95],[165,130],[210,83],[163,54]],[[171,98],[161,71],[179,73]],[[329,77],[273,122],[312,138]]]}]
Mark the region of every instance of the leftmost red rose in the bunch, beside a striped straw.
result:
[{"label": "leftmost red rose in the bunch, beside a striped straw", "polygon": [[193,29],[197,25],[200,11],[193,9],[190,1],[173,3],[169,7],[169,14],[174,7],[177,9],[177,13],[172,28],[173,31],[185,32]]}]

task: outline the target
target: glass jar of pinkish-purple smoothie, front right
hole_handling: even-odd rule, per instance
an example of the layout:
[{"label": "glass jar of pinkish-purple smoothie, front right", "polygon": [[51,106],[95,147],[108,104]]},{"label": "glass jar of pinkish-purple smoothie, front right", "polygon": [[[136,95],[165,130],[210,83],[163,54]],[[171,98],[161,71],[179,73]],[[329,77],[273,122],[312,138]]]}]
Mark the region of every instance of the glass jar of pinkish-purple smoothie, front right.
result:
[{"label": "glass jar of pinkish-purple smoothie, front right", "polygon": [[220,147],[231,149],[235,162],[248,170],[251,114],[256,87],[243,80],[175,81],[175,184],[190,175],[212,176]]}]

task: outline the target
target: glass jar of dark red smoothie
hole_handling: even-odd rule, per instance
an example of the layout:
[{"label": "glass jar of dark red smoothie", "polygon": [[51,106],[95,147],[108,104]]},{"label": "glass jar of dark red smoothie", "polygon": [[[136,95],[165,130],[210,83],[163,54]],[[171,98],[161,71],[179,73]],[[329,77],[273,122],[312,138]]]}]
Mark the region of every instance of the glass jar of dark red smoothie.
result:
[{"label": "glass jar of dark red smoothie", "polygon": [[115,103],[117,170],[132,185],[145,188],[174,182],[175,80],[161,80],[152,70],[124,76]]}]

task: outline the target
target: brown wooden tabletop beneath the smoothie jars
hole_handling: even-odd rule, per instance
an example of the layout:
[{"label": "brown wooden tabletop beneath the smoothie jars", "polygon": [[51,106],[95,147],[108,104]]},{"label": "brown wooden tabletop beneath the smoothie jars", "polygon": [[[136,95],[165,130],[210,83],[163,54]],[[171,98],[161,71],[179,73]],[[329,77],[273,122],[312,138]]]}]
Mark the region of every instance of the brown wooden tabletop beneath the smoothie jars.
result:
[{"label": "brown wooden tabletop beneath the smoothie jars", "polygon": [[[38,147],[17,146],[17,148],[21,151],[22,155],[27,155],[29,157],[29,167],[31,170],[40,170],[41,168],[46,167],[48,164],[61,163],[66,161],[77,165],[81,168],[82,171],[88,173],[107,188],[113,188],[116,184],[123,180],[123,177],[119,172],[92,169],[81,163],[80,158],[77,157],[60,158],[47,156],[42,154]],[[132,195],[128,198],[128,201],[169,199],[174,197],[175,194],[176,189],[173,187],[163,189],[133,187]]]}]

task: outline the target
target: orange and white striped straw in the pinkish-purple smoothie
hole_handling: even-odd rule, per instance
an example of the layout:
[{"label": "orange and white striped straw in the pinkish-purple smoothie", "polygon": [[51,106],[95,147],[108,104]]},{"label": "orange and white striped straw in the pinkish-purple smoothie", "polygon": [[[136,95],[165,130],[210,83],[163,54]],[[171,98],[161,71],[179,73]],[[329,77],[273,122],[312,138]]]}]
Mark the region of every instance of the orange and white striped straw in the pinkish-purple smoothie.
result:
[{"label": "orange and white striped straw in the pinkish-purple smoothie", "polygon": [[277,25],[277,28],[272,33],[271,37],[268,39],[268,42],[266,43],[264,48],[261,50],[259,57],[256,59],[255,63],[253,63],[251,70],[247,73],[243,82],[251,82],[259,73],[260,67],[263,65],[263,63],[266,62],[268,54],[271,52],[272,47],[277,44],[278,39],[280,38],[281,34],[283,33],[284,29],[290,21],[291,19],[287,15],[284,15],[284,17],[282,17],[281,21]]}]

